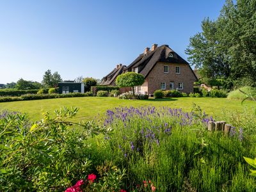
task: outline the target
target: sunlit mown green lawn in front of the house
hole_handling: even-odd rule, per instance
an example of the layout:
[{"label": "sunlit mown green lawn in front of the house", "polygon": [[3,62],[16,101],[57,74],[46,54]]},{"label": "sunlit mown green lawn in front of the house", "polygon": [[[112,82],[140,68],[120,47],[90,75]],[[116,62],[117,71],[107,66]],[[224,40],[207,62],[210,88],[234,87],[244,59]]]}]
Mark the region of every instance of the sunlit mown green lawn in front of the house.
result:
[{"label": "sunlit mown green lawn in front of the house", "polygon": [[246,101],[243,106],[240,100],[228,100],[222,98],[191,98],[182,97],[175,99],[148,99],[148,100],[120,100],[113,97],[76,97],[44,100],[24,100],[17,102],[0,103],[1,109],[20,111],[28,113],[32,120],[39,120],[44,111],[52,112],[63,106],[79,108],[76,121],[92,120],[98,114],[103,115],[107,109],[118,106],[168,106],[170,108],[182,108],[191,111],[193,103],[205,109],[207,114],[220,116],[221,111],[243,111],[245,108],[252,110],[256,108],[255,102]]}]

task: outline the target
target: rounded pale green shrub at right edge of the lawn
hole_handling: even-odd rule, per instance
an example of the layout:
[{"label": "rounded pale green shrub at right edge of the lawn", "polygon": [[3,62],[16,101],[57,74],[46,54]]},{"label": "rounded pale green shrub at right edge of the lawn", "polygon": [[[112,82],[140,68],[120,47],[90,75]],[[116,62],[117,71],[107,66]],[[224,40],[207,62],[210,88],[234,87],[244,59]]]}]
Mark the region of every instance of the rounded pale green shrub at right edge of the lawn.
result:
[{"label": "rounded pale green shrub at right edge of the lawn", "polygon": [[[228,99],[239,99],[239,100],[244,100],[246,99],[246,95],[242,92],[240,92],[239,90],[241,90],[242,92],[248,94],[248,95],[252,95],[252,97],[254,97],[256,99],[256,88],[253,88],[251,86],[243,86],[237,90],[234,90],[230,93],[228,93]],[[250,99],[250,98],[248,98]]]}]

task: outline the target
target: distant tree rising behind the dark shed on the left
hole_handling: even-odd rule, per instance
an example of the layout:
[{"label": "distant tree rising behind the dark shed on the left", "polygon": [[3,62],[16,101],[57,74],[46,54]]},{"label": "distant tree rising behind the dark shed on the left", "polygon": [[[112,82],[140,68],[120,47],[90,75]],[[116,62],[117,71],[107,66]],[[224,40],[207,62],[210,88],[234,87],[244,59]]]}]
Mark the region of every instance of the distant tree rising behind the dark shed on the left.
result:
[{"label": "distant tree rising behind the dark shed on the left", "polygon": [[61,76],[58,74],[58,72],[54,72],[54,74],[51,73],[51,70],[47,70],[44,73],[42,84],[44,87],[56,87],[58,86],[58,83],[61,82]]}]

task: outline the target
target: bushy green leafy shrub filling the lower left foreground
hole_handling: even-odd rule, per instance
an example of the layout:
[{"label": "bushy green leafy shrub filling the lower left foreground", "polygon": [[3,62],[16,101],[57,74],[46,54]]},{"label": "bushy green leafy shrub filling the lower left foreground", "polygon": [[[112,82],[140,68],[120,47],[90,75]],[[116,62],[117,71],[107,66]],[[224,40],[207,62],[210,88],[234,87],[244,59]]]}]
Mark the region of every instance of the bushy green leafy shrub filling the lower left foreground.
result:
[{"label": "bushy green leafy shrub filling the lower left foreground", "polygon": [[0,118],[0,191],[64,191],[86,178],[92,150],[85,141],[109,131],[93,122],[66,122],[77,111],[62,108],[31,123],[19,113]]}]

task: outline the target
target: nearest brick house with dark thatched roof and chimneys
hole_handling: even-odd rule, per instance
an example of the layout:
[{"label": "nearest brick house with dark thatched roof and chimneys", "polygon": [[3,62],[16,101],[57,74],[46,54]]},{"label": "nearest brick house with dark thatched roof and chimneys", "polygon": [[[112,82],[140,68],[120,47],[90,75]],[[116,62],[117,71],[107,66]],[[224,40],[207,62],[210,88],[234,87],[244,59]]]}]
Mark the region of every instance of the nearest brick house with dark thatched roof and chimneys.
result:
[{"label": "nearest brick house with dark thatched roof and chimneys", "polygon": [[151,49],[146,47],[142,54],[122,70],[142,74],[145,83],[136,87],[136,92],[149,95],[156,90],[179,90],[191,93],[193,84],[197,81],[189,63],[168,45],[157,47],[157,44],[153,44]]}]

